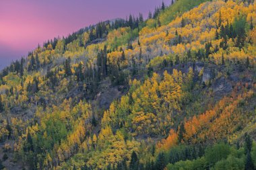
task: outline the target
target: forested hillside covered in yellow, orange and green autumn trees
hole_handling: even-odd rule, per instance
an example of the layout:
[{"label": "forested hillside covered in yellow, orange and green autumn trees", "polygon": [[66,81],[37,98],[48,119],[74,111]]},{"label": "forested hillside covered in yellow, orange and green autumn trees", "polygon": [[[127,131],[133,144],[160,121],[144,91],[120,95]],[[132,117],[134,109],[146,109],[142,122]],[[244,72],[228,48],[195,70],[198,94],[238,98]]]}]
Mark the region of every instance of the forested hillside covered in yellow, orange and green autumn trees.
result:
[{"label": "forested hillside covered in yellow, orange and green autumn trees", "polygon": [[0,73],[0,169],[255,169],[256,4],[177,0]]}]

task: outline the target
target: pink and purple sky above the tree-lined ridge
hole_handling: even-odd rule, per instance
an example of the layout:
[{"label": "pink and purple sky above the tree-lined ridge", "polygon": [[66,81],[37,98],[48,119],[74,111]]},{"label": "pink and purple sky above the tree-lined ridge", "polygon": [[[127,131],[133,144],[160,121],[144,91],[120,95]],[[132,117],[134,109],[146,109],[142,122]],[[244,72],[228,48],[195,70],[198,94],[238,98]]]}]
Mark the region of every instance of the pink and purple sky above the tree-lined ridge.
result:
[{"label": "pink and purple sky above the tree-lined ridge", "polygon": [[129,14],[140,12],[146,18],[161,4],[162,0],[0,0],[0,69],[46,40]]}]

